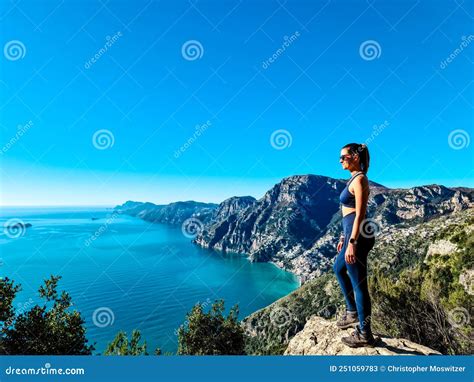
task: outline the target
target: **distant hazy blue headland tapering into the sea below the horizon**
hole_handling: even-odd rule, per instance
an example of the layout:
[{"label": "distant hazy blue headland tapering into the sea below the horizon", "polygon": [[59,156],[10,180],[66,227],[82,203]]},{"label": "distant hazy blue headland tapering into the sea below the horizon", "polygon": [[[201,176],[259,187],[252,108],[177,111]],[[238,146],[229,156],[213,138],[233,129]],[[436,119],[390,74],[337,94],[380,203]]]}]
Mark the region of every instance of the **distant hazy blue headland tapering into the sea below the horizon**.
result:
[{"label": "distant hazy blue headland tapering into the sea below the horizon", "polygon": [[128,201],[116,206],[114,210],[154,223],[179,225],[191,217],[199,219],[203,224],[208,223],[218,207],[218,204],[192,200],[164,205]]}]

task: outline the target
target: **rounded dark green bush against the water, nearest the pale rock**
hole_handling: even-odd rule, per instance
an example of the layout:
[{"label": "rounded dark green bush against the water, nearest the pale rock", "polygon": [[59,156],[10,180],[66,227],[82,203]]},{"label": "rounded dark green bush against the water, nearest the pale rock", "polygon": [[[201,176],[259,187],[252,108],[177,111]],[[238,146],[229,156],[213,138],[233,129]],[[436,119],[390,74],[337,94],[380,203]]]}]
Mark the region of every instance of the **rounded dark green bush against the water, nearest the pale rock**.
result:
[{"label": "rounded dark green bush against the water, nearest the pale rock", "polygon": [[209,312],[197,303],[186,314],[186,322],[178,329],[179,355],[245,354],[244,330],[237,320],[235,305],[224,317],[224,301],[216,300]]}]

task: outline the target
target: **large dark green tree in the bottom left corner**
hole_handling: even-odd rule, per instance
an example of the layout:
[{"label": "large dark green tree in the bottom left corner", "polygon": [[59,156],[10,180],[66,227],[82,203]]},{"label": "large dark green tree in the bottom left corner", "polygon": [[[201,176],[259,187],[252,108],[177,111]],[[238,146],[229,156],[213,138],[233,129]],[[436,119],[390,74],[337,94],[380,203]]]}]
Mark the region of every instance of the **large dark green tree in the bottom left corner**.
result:
[{"label": "large dark green tree in the bottom left corner", "polygon": [[39,288],[46,300],[25,312],[15,312],[13,300],[20,285],[0,280],[0,354],[89,355],[94,346],[87,345],[84,320],[72,307],[67,292],[57,292],[60,276],[51,276]]}]

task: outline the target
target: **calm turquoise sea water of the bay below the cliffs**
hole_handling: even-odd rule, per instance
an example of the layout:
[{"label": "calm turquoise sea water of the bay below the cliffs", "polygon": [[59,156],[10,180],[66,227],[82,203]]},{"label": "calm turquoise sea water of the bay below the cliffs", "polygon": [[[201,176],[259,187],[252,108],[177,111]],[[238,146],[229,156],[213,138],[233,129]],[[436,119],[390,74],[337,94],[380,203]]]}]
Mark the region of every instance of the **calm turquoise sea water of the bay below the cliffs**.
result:
[{"label": "calm turquoise sea water of the bay below the cliffs", "polygon": [[[10,219],[32,227],[5,230]],[[16,308],[41,304],[39,285],[61,275],[59,289],[81,312],[96,353],[119,330],[133,329],[150,353],[156,347],[175,352],[176,329],[196,302],[210,307],[222,298],[226,313],[237,303],[242,319],[299,285],[273,264],[200,248],[180,227],[106,208],[3,208],[0,223],[0,275],[23,289]]]}]

